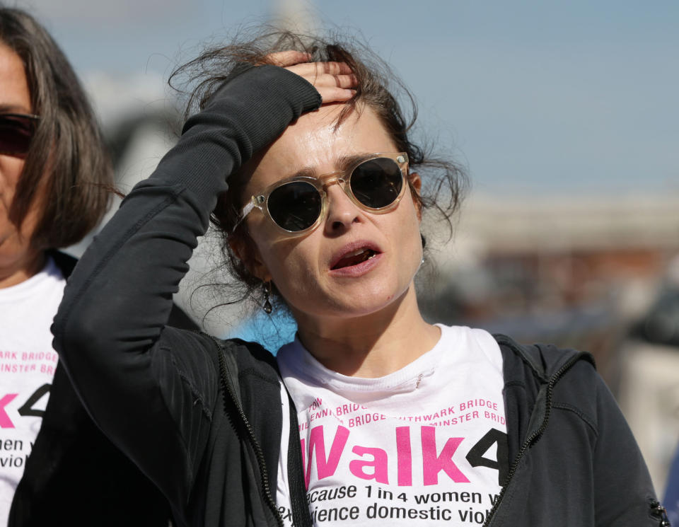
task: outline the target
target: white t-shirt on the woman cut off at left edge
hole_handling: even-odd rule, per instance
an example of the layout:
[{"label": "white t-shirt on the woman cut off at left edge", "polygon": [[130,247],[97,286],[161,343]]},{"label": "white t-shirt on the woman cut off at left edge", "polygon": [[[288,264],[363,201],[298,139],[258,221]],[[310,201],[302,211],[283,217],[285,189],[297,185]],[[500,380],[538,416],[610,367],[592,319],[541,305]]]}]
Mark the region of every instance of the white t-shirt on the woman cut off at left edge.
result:
[{"label": "white t-shirt on the woman cut off at left edge", "polygon": [[50,394],[57,352],[50,325],[66,280],[50,258],[28,280],[0,289],[0,526],[7,523]]}]

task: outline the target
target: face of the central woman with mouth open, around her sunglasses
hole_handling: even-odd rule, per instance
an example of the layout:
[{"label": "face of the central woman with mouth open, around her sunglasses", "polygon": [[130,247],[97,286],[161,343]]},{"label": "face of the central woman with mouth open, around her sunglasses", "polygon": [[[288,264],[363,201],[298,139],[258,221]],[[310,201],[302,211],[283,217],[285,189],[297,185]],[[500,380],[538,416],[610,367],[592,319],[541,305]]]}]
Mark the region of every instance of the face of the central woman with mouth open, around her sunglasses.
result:
[{"label": "face of the central woman with mouth open, around her sunglasses", "polygon": [[[250,161],[245,201],[301,170],[324,175],[340,170],[344,157],[397,151],[370,108],[352,112],[335,129],[341,110],[342,105],[327,105],[303,115]],[[379,311],[412,286],[422,260],[419,209],[408,187],[397,207],[385,214],[357,207],[339,185],[326,192],[327,216],[306,236],[285,236],[260,211],[246,219],[254,242],[246,259],[250,271],[274,282],[298,321]],[[351,255],[364,249],[375,255],[349,265],[356,262]]]}]

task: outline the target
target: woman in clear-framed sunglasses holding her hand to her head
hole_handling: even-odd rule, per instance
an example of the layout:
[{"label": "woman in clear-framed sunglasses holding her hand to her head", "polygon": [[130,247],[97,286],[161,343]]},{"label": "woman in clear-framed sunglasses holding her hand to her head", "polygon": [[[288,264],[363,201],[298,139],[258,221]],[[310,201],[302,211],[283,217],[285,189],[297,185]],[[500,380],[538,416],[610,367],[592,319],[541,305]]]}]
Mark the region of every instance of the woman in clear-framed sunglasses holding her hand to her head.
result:
[{"label": "woman in clear-framed sunglasses holding her hand to her head", "polygon": [[[192,65],[216,72],[202,111],[83,256],[53,326],[178,525],[661,524],[588,354],[422,319],[426,163],[374,66],[289,34]],[[294,315],[276,359],[166,321],[213,211],[265,311],[279,295]]]}]

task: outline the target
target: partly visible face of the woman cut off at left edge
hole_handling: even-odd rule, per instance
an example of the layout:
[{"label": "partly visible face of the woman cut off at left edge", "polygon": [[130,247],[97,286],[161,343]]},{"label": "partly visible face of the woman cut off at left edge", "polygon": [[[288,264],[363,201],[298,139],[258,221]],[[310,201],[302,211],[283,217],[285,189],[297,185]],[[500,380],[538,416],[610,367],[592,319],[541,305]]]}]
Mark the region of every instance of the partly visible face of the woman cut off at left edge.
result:
[{"label": "partly visible face of the woman cut off at left edge", "polygon": [[[0,42],[0,112],[32,113],[23,62]],[[30,277],[40,254],[30,239],[37,223],[37,207],[31,207],[19,228],[9,217],[24,158],[0,154],[0,286]]]}]

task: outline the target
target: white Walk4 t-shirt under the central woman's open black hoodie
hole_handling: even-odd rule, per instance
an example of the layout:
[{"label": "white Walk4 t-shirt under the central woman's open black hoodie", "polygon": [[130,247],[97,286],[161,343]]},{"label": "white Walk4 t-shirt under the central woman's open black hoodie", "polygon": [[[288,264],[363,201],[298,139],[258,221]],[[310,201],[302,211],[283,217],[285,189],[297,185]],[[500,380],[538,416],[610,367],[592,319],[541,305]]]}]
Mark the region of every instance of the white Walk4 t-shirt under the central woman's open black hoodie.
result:
[{"label": "white Walk4 t-shirt under the central woman's open black hoodie", "polygon": [[[279,350],[315,526],[485,521],[508,465],[502,357],[483,330],[439,327],[433,349],[381,378],[330,371],[298,340]],[[291,526],[282,401],[277,504]]]}]

